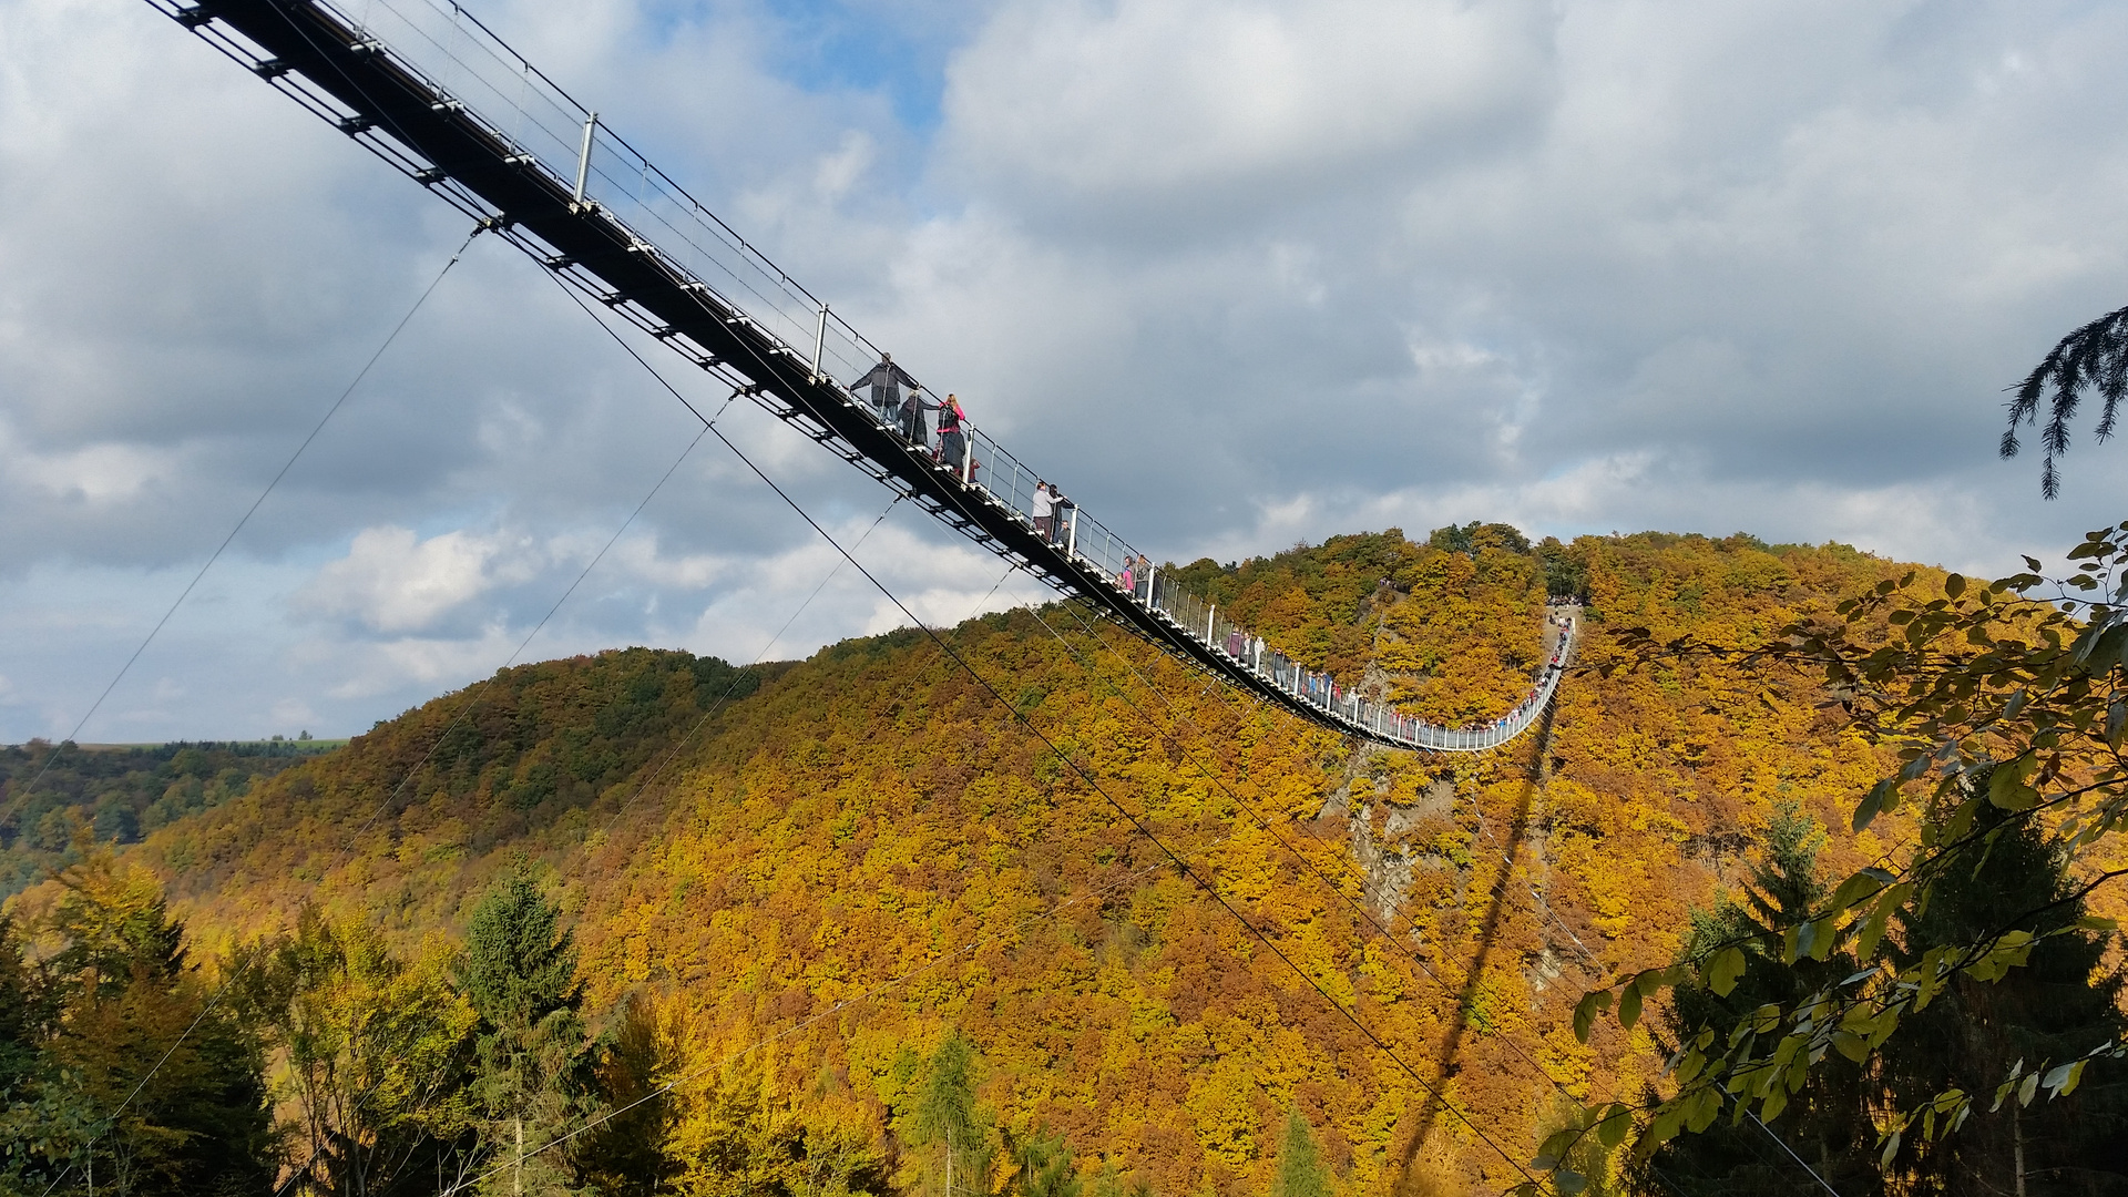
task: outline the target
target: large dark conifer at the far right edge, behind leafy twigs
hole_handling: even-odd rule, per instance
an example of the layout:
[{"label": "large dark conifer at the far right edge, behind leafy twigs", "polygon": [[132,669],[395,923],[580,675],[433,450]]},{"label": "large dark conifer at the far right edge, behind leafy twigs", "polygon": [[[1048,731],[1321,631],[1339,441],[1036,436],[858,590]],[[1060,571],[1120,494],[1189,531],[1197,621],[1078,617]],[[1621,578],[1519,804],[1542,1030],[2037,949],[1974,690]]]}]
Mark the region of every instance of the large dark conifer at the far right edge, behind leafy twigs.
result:
[{"label": "large dark conifer at the far right edge, behind leafy twigs", "polygon": [[[1936,944],[2009,929],[2039,939],[2022,969],[1996,982],[1960,973],[1907,1018],[1883,1054],[1902,1110],[1951,1086],[1988,1095],[1979,1103],[1988,1110],[2017,1061],[2030,1069],[2128,1039],[2124,975],[2105,965],[2105,939],[2075,931],[2083,903],[2064,901],[2073,888],[2064,852],[2030,818],[1990,803],[1979,811],[1985,839],[1939,882],[1928,907],[1905,920],[1900,963]],[[2005,1101],[1943,1139],[1909,1139],[1894,1167],[1917,1191],[1943,1197],[2124,1193],[2124,1135],[2128,1082],[2100,1061],[2068,1097],[2030,1108]]]}]

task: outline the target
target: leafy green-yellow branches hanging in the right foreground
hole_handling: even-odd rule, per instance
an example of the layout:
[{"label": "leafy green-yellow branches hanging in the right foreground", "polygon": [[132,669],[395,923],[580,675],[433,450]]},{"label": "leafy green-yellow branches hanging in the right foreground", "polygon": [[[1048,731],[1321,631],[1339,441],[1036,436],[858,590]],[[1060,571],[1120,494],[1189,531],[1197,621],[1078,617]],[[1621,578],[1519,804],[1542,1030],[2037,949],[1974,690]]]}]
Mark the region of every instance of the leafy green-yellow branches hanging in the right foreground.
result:
[{"label": "leafy green-yellow branches hanging in the right foreground", "polygon": [[[2090,532],[2068,560],[2077,562],[2068,577],[2041,577],[2039,562],[2026,558],[2028,573],[1985,586],[1960,575],[1939,586],[1909,573],[1841,603],[1830,620],[1798,620],[1760,645],[1622,633],[1626,654],[1605,673],[1673,656],[1819,667],[1828,705],[1898,760],[1856,799],[1853,829],[1915,805],[1919,841],[1900,865],[1879,860],[1841,880],[1807,918],[1777,933],[1743,927],[1696,944],[1677,965],[1585,995],[1575,1010],[1583,1042],[1598,1018],[1615,1014],[1630,1029],[1649,999],[1679,986],[1730,997],[1751,954],[1790,967],[1822,965],[1834,952],[1856,961],[1851,971],[1834,969],[1809,993],[1768,1001],[1728,1027],[1677,1027],[1666,1095],[1639,1108],[1585,1108],[1545,1142],[1536,1163],[1556,1169],[1562,1191],[1585,1184],[1560,1161],[1587,1135],[1605,1146],[1630,1142],[1630,1159],[1647,1161],[1724,1114],[1773,1120],[1828,1056],[1881,1063],[1894,1035],[1956,986],[2000,982],[2051,941],[2113,931],[2109,920],[2081,916],[2081,903],[2122,875],[2100,860],[2128,822],[2128,522]],[[2019,837],[2041,837],[2060,852],[2071,878],[2062,892],[2028,895],[1936,941],[1915,931],[1939,890]],[[2060,1059],[2019,1059],[1994,1086],[1949,1084],[1888,1108],[1875,1118],[1879,1159],[1890,1165],[1902,1144],[1936,1142],[1977,1110],[2022,1110],[2041,1091],[2066,1097],[2092,1061],[2122,1056],[2128,1048],[2109,1039]],[[1534,1193],[1534,1184],[1524,1188]]]}]

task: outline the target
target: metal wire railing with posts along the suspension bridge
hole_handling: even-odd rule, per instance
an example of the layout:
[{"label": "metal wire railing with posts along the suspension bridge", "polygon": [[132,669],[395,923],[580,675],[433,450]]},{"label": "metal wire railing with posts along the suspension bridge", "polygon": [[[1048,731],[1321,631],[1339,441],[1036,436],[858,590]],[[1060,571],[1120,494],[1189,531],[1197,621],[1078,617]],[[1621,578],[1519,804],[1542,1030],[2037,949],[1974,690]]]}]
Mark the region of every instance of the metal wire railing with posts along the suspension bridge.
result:
[{"label": "metal wire railing with posts along the suspension bridge", "polygon": [[[151,0],[166,13],[189,19],[209,9],[177,9]],[[449,0],[311,0],[332,21],[353,30],[358,49],[387,55],[436,98],[432,109],[475,121],[511,153],[504,162],[545,173],[564,194],[570,211],[596,211],[626,232],[632,253],[655,256],[689,288],[715,296],[738,319],[753,326],[783,364],[800,364],[809,377],[834,379],[879,426],[902,437],[919,456],[960,477],[964,498],[987,503],[1019,520],[1070,562],[1092,575],[1102,605],[1132,603],[1204,650],[1209,660],[1236,675],[1281,690],[1319,722],[1368,739],[1434,752],[1483,752],[1522,735],[1551,703],[1564,662],[1573,650],[1577,620],[1566,618],[1558,650],[1532,679],[1528,696],[1509,714],[1483,726],[1449,728],[1428,724],[1385,703],[1362,699],[1324,671],[1307,669],[1266,645],[1262,637],[1224,618],[1209,601],[1170,586],[1149,558],[1075,503],[1058,503],[1036,518],[1036,488],[1043,477],[1021,464],[996,439],[970,422],[958,434],[941,434],[930,411],[919,426],[902,428],[898,405],[872,407],[870,394],[849,388],[883,360],[819,296],[798,285],[762,251],[738,236],[685,187],[653,166],[643,153],[609,130],[598,115],[538,72],[487,26]],[[228,51],[228,49],[226,49]],[[251,64],[275,79],[270,62]],[[298,96],[319,115],[330,111]],[[347,121],[340,121],[347,128]],[[372,143],[372,149],[379,149]],[[383,149],[379,149],[385,153]],[[402,162],[402,155],[396,155]],[[732,362],[747,368],[745,362]],[[896,396],[900,398],[900,396]],[[1083,586],[1081,586],[1083,590]]]}]

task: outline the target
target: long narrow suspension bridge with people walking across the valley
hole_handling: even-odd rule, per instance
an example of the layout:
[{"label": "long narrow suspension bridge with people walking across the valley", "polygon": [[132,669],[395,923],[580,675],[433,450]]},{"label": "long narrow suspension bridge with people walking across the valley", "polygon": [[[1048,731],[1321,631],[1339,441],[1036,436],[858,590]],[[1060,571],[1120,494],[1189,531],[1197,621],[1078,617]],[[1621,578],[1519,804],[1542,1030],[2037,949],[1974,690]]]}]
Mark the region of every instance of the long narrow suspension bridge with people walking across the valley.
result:
[{"label": "long narrow suspension bridge with people walking across the valley", "polygon": [[1058,473],[1036,475],[972,424],[945,452],[904,434],[841,381],[870,373],[877,345],[458,4],[149,4],[977,545],[1260,699],[1394,748],[1485,752],[1528,731],[1560,686],[1573,607],[1553,609],[1547,662],[1511,711],[1436,726],[1290,660],[1081,507],[1038,520],[1038,477]]}]

